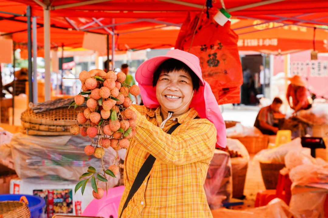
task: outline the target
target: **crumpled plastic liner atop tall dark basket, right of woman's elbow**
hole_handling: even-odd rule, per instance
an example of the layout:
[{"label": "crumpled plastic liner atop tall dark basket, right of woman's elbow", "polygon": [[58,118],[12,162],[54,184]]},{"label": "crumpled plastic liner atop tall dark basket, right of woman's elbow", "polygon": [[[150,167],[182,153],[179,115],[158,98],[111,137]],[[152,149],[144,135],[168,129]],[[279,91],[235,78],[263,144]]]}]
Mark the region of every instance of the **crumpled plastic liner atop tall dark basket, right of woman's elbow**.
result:
[{"label": "crumpled plastic liner atop tall dark basket, right of woman's elbow", "polygon": [[236,170],[240,170],[248,164],[249,153],[241,142],[237,139],[227,138],[227,147],[229,150],[237,151],[242,157],[231,158],[231,165]]}]

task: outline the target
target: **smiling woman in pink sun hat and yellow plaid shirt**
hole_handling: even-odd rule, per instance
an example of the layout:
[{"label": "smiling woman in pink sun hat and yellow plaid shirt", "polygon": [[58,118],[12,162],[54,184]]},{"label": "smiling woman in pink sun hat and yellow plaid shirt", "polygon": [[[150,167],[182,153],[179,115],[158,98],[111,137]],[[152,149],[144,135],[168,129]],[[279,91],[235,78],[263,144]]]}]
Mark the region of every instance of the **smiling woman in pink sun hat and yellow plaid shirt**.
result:
[{"label": "smiling woman in pink sun hat and yellow plaid shirt", "polygon": [[[212,217],[204,182],[225,124],[199,59],[170,50],[136,71],[144,106],[124,162],[120,217]],[[175,129],[175,130],[174,130]],[[148,169],[148,171],[147,171]]]}]

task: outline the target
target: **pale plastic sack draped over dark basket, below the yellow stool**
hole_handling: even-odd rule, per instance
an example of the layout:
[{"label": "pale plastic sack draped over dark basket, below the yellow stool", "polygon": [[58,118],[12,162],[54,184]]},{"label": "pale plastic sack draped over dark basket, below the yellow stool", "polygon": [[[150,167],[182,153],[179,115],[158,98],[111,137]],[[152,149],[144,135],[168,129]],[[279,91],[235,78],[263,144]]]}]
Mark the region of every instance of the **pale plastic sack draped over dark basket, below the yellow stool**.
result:
[{"label": "pale plastic sack draped over dark basket, below the yellow stool", "polygon": [[285,156],[289,151],[302,152],[306,155],[310,155],[310,148],[303,148],[301,145],[301,139],[296,138],[293,141],[280,145],[273,149],[264,149],[258,152],[254,156],[254,161],[259,161],[262,163],[284,163]]}]

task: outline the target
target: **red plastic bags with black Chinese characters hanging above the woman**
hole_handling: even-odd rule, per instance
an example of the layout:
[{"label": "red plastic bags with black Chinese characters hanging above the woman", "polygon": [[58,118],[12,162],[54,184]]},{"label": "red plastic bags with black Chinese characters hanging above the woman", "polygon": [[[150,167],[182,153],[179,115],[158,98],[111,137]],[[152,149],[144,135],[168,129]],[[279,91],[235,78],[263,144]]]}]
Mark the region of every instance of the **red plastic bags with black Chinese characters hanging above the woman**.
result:
[{"label": "red plastic bags with black Chinese characters hanging above the woman", "polygon": [[[200,60],[203,78],[210,84],[218,104],[239,103],[240,86],[243,83],[237,41],[238,35],[213,19],[217,8],[209,9],[210,18],[203,13],[190,49]],[[200,13],[190,12],[181,26],[175,48],[189,51]]]}]

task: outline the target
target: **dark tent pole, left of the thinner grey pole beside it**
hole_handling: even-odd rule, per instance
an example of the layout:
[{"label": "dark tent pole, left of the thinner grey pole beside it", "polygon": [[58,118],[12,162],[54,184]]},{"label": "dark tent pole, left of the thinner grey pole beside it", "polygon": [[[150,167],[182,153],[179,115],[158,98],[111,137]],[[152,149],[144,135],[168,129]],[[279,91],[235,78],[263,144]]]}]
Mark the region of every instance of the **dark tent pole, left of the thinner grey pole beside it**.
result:
[{"label": "dark tent pole, left of the thinner grey pole beside it", "polygon": [[[27,6],[27,49],[28,49],[28,78],[29,78],[29,102],[33,102],[32,89],[32,37],[31,37],[31,6]],[[13,96],[14,97],[14,96]]]}]

